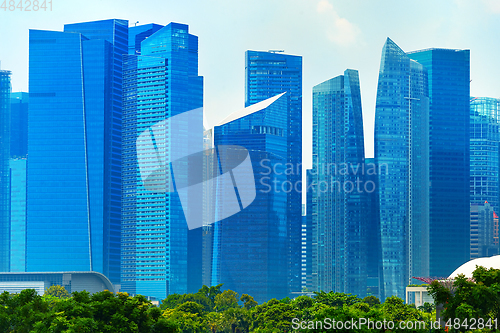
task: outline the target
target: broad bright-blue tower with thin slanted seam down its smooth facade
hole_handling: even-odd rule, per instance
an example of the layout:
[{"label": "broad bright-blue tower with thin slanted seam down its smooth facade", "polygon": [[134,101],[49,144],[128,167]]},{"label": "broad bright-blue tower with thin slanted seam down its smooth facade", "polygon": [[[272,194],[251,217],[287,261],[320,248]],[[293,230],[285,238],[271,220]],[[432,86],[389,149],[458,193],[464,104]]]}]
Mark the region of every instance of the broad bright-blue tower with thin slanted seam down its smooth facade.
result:
[{"label": "broad bright-blue tower with thin slanted seam down its smooth facade", "polygon": [[122,55],[128,22],[30,30],[26,271],[120,282]]}]

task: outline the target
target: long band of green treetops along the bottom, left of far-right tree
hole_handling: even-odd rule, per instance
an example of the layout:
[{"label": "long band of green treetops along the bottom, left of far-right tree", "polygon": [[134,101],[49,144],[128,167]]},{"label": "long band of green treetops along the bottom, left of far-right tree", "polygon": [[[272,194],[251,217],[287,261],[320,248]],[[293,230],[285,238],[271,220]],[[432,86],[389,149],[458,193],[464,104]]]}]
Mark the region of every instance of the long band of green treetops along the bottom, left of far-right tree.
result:
[{"label": "long band of green treetops along the bottom, left of far-right tree", "polygon": [[[67,295],[60,287],[37,295],[34,290],[0,295],[0,332],[225,332],[282,333],[326,332],[328,320],[429,321],[431,314],[404,304],[397,297],[385,303],[373,296],[364,299],[340,293],[315,293],[295,299],[272,299],[257,304],[252,296],[241,297],[222,285],[201,288],[197,293],[170,295],[160,307],[145,297],[129,297],[103,291]],[[319,324],[321,322],[322,324]],[[389,332],[368,327],[338,332]],[[413,329],[411,332],[428,332]]]}]

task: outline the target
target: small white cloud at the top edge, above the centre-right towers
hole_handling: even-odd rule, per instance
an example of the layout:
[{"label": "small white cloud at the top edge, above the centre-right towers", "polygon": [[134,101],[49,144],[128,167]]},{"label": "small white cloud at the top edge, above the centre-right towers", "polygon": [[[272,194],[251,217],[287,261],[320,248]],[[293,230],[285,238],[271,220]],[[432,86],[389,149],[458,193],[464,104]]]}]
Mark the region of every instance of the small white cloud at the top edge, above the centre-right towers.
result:
[{"label": "small white cloud at the top edge, above the centre-right towers", "polygon": [[328,0],[319,1],[316,10],[327,20],[326,35],[330,41],[339,46],[350,46],[356,43],[361,30],[346,18],[340,17]]}]

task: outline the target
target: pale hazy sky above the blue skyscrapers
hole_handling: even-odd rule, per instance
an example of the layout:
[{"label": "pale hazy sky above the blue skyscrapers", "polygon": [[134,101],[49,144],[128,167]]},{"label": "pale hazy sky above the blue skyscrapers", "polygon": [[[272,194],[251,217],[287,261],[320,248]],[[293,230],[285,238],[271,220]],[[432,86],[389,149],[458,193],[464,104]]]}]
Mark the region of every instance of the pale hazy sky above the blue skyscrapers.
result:
[{"label": "pale hazy sky above the blue skyscrapers", "polygon": [[378,70],[387,37],[404,51],[470,49],[471,95],[500,98],[500,0],[52,0],[52,11],[2,8],[1,69],[12,71],[13,91],[28,91],[29,29],[62,31],[67,23],[110,18],[131,26],[189,25],[199,37],[209,125],[244,107],[246,50],[302,56],[305,167],[312,160],[312,87],[347,68],[359,71],[365,153],[373,157]]}]

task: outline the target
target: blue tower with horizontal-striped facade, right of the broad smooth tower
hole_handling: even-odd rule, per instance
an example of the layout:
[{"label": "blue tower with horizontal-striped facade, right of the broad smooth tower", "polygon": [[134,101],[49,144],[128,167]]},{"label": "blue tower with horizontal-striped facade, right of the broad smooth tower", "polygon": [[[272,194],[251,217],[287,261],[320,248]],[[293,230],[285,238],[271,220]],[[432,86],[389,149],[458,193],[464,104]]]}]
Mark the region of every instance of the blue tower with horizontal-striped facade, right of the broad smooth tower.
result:
[{"label": "blue tower with horizontal-striped facade, right of the broad smooth tower", "polygon": [[[141,171],[157,166],[140,163],[203,149],[201,113],[175,128],[169,122],[203,106],[203,77],[198,76],[198,37],[188,26],[157,27],[133,28],[136,42],[142,39],[140,50],[124,57],[122,290],[161,300],[202,286],[202,228],[188,230],[189,208],[181,205],[178,192],[166,190],[164,175],[146,184]],[[139,31],[147,33],[137,39]],[[154,149],[141,141],[141,133],[149,131]]]}]

